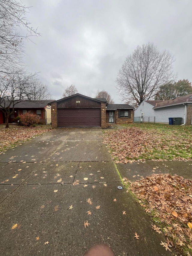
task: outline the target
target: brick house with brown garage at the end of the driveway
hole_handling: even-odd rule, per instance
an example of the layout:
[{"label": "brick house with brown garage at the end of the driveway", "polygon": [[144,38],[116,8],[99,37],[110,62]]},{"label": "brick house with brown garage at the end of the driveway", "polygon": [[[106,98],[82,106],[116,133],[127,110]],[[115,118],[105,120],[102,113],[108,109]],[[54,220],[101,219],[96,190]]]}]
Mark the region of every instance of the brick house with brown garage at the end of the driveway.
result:
[{"label": "brick house with brown garage at the end of the driveway", "polygon": [[[101,127],[105,128],[106,123],[109,123],[109,113],[113,112],[115,115],[117,108],[113,107],[113,110],[106,110],[107,100],[103,98],[90,98],[85,95],[76,93],[66,98],[62,98],[58,101],[49,103],[51,105],[51,119],[52,128],[56,127]],[[110,104],[119,105],[119,104]],[[108,106],[110,106],[108,105]],[[120,104],[121,105],[121,104]],[[119,106],[120,106],[119,105]],[[124,105],[124,104],[123,104]],[[118,123],[126,123],[128,121],[133,122],[133,107],[124,105],[124,108],[120,107],[122,111],[121,115],[114,116],[114,121]],[[132,111],[128,112],[128,110]],[[131,114],[132,113],[132,114]],[[108,117],[106,117],[108,115]],[[130,117],[130,118],[129,118]],[[122,121],[122,122],[121,122]]]}]

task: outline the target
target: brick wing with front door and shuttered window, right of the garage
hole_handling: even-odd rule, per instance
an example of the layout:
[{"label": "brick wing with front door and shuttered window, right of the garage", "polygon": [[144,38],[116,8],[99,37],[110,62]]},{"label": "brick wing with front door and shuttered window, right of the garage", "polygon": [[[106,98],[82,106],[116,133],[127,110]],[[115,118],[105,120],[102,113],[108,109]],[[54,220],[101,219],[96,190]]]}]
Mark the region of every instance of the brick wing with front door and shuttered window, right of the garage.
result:
[{"label": "brick wing with front door and shuttered window, right of the garage", "polygon": [[106,123],[133,123],[134,107],[128,104],[109,104],[106,108]]}]

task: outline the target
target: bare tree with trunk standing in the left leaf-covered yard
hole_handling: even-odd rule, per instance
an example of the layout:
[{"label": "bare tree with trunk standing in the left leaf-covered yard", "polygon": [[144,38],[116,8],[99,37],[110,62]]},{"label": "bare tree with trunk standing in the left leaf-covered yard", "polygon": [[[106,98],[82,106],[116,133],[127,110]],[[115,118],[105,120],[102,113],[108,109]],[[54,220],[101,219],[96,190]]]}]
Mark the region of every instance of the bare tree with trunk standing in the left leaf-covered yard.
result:
[{"label": "bare tree with trunk standing in the left leaf-covered yard", "polygon": [[15,105],[27,99],[28,81],[34,77],[37,77],[37,74],[14,70],[0,80],[0,108],[5,115],[6,128],[9,128],[8,118],[14,113]]}]

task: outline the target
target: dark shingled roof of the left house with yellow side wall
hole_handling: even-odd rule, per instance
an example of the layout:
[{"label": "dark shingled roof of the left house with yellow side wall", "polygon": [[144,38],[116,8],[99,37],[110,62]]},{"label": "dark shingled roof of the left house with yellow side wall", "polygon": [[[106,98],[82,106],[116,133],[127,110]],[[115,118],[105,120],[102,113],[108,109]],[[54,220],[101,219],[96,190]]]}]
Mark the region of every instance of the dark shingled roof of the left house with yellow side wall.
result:
[{"label": "dark shingled roof of the left house with yellow side wall", "polygon": [[[49,105],[51,100],[26,100],[20,101],[14,105],[14,108],[44,108]],[[4,101],[5,106],[8,105],[8,101]],[[10,108],[13,107],[13,104],[10,105]],[[1,108],[1,107],[0,107]]]}]

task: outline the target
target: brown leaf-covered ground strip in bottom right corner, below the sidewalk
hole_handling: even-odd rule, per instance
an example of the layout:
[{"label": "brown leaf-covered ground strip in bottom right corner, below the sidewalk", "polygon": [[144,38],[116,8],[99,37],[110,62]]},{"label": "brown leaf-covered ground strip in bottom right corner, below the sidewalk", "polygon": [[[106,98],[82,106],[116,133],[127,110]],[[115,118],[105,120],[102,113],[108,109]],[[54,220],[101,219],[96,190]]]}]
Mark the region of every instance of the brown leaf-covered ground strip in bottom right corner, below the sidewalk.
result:
[{"label": "brown leaf-covered ground strip in bottom right corner, below the sidewalk", "polygon": [[185,246],[192,250],[191,180],[177,175],[153,174],[131,183],[130,189],[140,199],[145,211],[158,220],[159,227],[152,227],[167,236],[167,243],[163,243],[166,250],[173,244],[180,249]]}]

